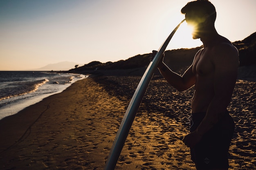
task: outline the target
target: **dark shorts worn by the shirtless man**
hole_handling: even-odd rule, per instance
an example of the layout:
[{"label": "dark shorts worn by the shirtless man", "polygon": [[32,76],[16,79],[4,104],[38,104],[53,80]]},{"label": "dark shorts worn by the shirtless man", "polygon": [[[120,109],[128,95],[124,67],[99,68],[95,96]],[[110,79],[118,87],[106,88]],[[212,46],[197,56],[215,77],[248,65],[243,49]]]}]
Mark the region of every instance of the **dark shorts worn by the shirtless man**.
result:
[{"label": "dark shorts worn by the shirtless man", "polygon": [[[190,132],[193,132],[201,123],[206,113],[192,113]],[[202,137],[202,140],[191,149],[191,159],[197,170],[212,168],[229,168],[229,145],[234,133],[234,120],[227,111]]]}]

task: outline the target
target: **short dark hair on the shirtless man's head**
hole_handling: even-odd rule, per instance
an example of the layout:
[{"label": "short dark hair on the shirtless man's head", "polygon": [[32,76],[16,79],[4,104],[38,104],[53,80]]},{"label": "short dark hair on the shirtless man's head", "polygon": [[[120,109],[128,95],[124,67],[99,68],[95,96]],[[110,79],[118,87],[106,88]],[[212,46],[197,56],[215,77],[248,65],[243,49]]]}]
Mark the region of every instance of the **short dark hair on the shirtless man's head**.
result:
[{"label": "short dark hair on the shirtless man's head", "polygon": [[216,20],[216,9],[209,0],[196,0],[187,3],[182,9],[181,13],[186,14],[193,12],[198,16],[209,15],[209,18],[214,23]]}]

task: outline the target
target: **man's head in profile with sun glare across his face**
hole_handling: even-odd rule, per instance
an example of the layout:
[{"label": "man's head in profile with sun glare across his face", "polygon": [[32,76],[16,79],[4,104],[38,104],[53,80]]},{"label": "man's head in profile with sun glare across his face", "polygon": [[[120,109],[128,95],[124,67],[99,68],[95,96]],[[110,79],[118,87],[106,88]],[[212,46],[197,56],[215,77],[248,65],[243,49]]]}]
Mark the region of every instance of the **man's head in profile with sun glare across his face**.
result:
[{"label": "man's head in profile with sun glare across his face", "polygon": [[186,22],[195,27],[193,38],[200,38],[202,31],[214,28],[216,9],[209,0],[196,0],[187,3],[181,13],[185,14]]}]

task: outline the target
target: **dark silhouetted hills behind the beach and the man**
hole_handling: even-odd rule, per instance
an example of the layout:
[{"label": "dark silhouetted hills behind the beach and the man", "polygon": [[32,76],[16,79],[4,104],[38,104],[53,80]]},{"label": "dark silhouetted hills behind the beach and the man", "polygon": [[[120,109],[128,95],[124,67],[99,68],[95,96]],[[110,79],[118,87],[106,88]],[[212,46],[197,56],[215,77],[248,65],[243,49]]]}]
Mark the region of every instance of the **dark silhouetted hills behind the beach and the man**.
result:
[{"label": "dark silhouetted hills behind the beach and the man", "polygon": [[[233,42],[239,51],[240,66],[249,66],[256,64],[256,32],[241,41]],[[188,67],[192,64],[193,58],[202,46],[193,49],[176,49],[165,51],[164,62],[171,69],[177,70]],[[81,67],[73,68],[71,72],[90,72],[106,70],[124,70],[147,67],[150,54],[136,55],[127,60],[117,62],[101,63],[99,61],[90,62]],[[93,72],[92,72],[93,71]]]}]

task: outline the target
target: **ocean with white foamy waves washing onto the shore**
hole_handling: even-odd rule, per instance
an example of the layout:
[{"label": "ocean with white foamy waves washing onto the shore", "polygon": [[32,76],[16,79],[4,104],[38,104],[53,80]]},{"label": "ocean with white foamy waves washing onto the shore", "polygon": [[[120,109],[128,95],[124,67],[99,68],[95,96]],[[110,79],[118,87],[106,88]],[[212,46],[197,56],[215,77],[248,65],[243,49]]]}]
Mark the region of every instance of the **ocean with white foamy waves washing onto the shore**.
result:
[{"label": "ocean with white foamy waves washing onto the shore", "polygon": [[0,71],[0,119],[16,114],[45,97],[61,93],[86,77],[45,71]]}]

